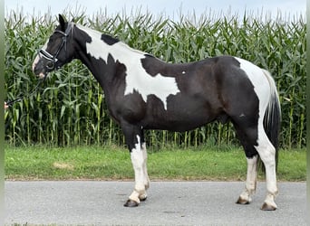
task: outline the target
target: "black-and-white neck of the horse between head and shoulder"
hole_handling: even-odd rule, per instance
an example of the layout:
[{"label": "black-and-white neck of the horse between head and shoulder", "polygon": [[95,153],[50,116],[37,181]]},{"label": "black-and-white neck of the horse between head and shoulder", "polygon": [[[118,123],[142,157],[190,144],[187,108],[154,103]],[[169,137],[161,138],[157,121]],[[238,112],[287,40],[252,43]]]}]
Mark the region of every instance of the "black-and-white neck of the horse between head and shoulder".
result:
[{"label": "black-and-white neck of the horse between head and shoulder", "polygon": [[[119,42],[109,36],[113,43],[102,40],[102,33],[90,28],[77,25],[80,30],[75,33],[76,42],[80,46],[77,58],[80,59],[93,76],[102,85],[102,89],[111,89],[110,82],[117,73],[120,64],[126,67],[130,64],[139,63],[134,61],[140,59],[145,52],[131,49],[127,44]],[[86,40],[86,42],[85,42]]]}]

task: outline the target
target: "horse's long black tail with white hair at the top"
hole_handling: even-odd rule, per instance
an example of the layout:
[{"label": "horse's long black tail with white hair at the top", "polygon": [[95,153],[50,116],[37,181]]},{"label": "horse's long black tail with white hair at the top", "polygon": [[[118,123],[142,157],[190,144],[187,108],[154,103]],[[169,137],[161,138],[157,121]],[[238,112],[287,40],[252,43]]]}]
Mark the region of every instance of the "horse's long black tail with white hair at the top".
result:
[{"label": "horse's long black tail with white hair at the top", "polygon": [[[281,124],[281,108],[276,83],[268,71],[263,70],[270,84],[271,95],[264,116],[264,129],[271,144],[276,148],[276,166],[278,162],[279,133]],[[277,168],[277,167],[276,167]]]}]

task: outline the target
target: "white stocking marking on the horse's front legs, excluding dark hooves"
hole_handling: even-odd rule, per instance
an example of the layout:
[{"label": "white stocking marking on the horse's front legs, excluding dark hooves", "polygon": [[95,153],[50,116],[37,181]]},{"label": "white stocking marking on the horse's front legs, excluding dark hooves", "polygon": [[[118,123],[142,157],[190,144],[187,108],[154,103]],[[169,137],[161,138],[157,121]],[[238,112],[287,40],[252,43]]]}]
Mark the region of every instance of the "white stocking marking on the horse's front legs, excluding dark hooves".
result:
[{"label": "white stocking marking on the horse's front legs, excluding dark hooves", "polygon": [[131,150],[131,163],[134,170],[135,185],[134,190],[130,195],[130,200],[140,203],[140,199],[145,199],[147,194],[145,192],[145,178],[144,174],[144,155],[141,150],[140,137],[137,135],[138,144]]}]

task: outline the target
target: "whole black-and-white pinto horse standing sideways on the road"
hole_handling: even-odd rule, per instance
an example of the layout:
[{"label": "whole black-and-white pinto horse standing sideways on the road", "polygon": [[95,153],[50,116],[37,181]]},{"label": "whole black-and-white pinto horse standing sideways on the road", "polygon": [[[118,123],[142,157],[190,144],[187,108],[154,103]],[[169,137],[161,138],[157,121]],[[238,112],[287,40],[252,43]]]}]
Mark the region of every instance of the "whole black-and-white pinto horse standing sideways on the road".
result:
[{"label": "whole black-and-white pinto horse standing sideways on the road", "polygon": [[276,210],[276,159],[280,106],[268,71],[231,56],[171,64],[81,24],[59,25],[38,52],[33,70],[45,77],[79,59],[105,94],[110,115],[121,126],[130,150],[135,185],[124,206],[138,206],[150,186],[144,129],[187,131],[230,120],[247,156],[247,182],[237,203],[251,202],[257,160],[266,169],[262,210]]}]

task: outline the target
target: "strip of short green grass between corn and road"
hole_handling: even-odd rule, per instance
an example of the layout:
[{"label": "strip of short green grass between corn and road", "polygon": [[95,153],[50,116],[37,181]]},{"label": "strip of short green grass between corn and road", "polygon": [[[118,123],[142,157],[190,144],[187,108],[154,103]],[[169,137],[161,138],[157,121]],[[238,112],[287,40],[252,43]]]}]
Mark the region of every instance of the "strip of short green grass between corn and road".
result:
[{"label": "strip of short green grass between corn and road", "polygon": [[[281,150],[278,180],[305,181],[305,149]],[[245,180],[240,148],[190,147],[149,151],[151,180]],[[133,178],[129,152],[115,146],[5,148],[7,180],[127,180]],[[264,179],[260,174],[259,179]]]}]

